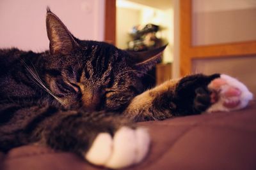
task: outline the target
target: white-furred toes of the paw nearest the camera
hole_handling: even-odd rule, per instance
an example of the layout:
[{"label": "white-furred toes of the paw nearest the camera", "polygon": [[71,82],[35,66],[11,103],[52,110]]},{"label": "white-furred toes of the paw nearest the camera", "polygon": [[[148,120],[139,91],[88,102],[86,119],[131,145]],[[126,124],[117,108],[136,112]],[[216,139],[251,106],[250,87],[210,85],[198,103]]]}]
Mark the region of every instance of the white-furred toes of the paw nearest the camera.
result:
[{"label": "white-furred toes of the paw nearest the camera", "polygon": [[84,157],[97,166],[118,169],[140,162],[147,155],[149,144],[146,129],[121,127],[113,138],[106,132],[98,134]]}]

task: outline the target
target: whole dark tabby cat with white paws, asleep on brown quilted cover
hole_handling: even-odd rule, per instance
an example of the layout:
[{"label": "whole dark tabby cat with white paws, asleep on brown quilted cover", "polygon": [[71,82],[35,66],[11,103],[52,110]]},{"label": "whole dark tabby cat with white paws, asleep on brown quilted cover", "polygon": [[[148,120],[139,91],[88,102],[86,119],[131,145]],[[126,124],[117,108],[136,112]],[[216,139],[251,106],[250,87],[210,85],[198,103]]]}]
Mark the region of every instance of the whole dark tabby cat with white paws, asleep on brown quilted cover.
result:
[{"label": "whole dark tabby cat with white paws, asleep on brown quilted cover", "polygon": [[252,94],[230,76],[195,74],[143,92],[165,46],[127,52],[74,37],[49,9],[49,51],[0,50],[0,150],[32,143],[122,168],[148,152],[132,122],[244,108]]}]

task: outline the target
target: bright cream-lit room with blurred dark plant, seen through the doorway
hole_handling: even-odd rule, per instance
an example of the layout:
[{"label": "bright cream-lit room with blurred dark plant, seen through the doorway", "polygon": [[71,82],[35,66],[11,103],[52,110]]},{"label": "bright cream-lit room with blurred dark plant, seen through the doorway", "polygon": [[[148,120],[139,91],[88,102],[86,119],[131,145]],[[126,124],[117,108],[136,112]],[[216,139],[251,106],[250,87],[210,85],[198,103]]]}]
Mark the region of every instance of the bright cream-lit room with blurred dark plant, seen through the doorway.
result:
[{"label": "bright cream-lit room with blurred dark plant, seen through the doorway", "polygon": [[173,25],[172,1],[116,1],[118,48],[145,51],[168,44],[161,62],[145,77],[148,88],[172,78]]}]

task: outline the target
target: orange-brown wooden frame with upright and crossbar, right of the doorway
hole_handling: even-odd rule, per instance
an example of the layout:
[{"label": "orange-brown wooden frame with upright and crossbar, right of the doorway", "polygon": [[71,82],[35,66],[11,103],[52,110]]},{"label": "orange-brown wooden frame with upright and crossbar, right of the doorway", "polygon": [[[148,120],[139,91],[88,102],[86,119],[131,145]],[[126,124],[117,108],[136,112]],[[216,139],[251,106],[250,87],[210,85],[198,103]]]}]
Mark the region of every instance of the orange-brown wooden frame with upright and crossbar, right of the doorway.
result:
[{"label": "orange-brown wooden frame with upright and crossbar, right of the doorway", "polygon": [[180,75],[191,74],[192,60],[210,57],[256,55],[256,41],[192,45],[192,0],[180,0]]}]

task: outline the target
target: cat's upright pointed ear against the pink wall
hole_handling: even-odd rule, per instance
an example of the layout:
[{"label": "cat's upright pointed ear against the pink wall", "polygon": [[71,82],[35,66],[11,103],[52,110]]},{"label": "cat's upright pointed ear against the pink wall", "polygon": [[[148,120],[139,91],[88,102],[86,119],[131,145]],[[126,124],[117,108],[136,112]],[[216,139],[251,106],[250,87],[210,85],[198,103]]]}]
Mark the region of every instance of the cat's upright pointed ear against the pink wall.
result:
[{"label": "cat's upright pointed ear against the pink wall", "polygon": [[49,8],[47,8],[46,15],[46,29],[51,54],[67,54],[78,48],[79,44],[76,39]]}]

